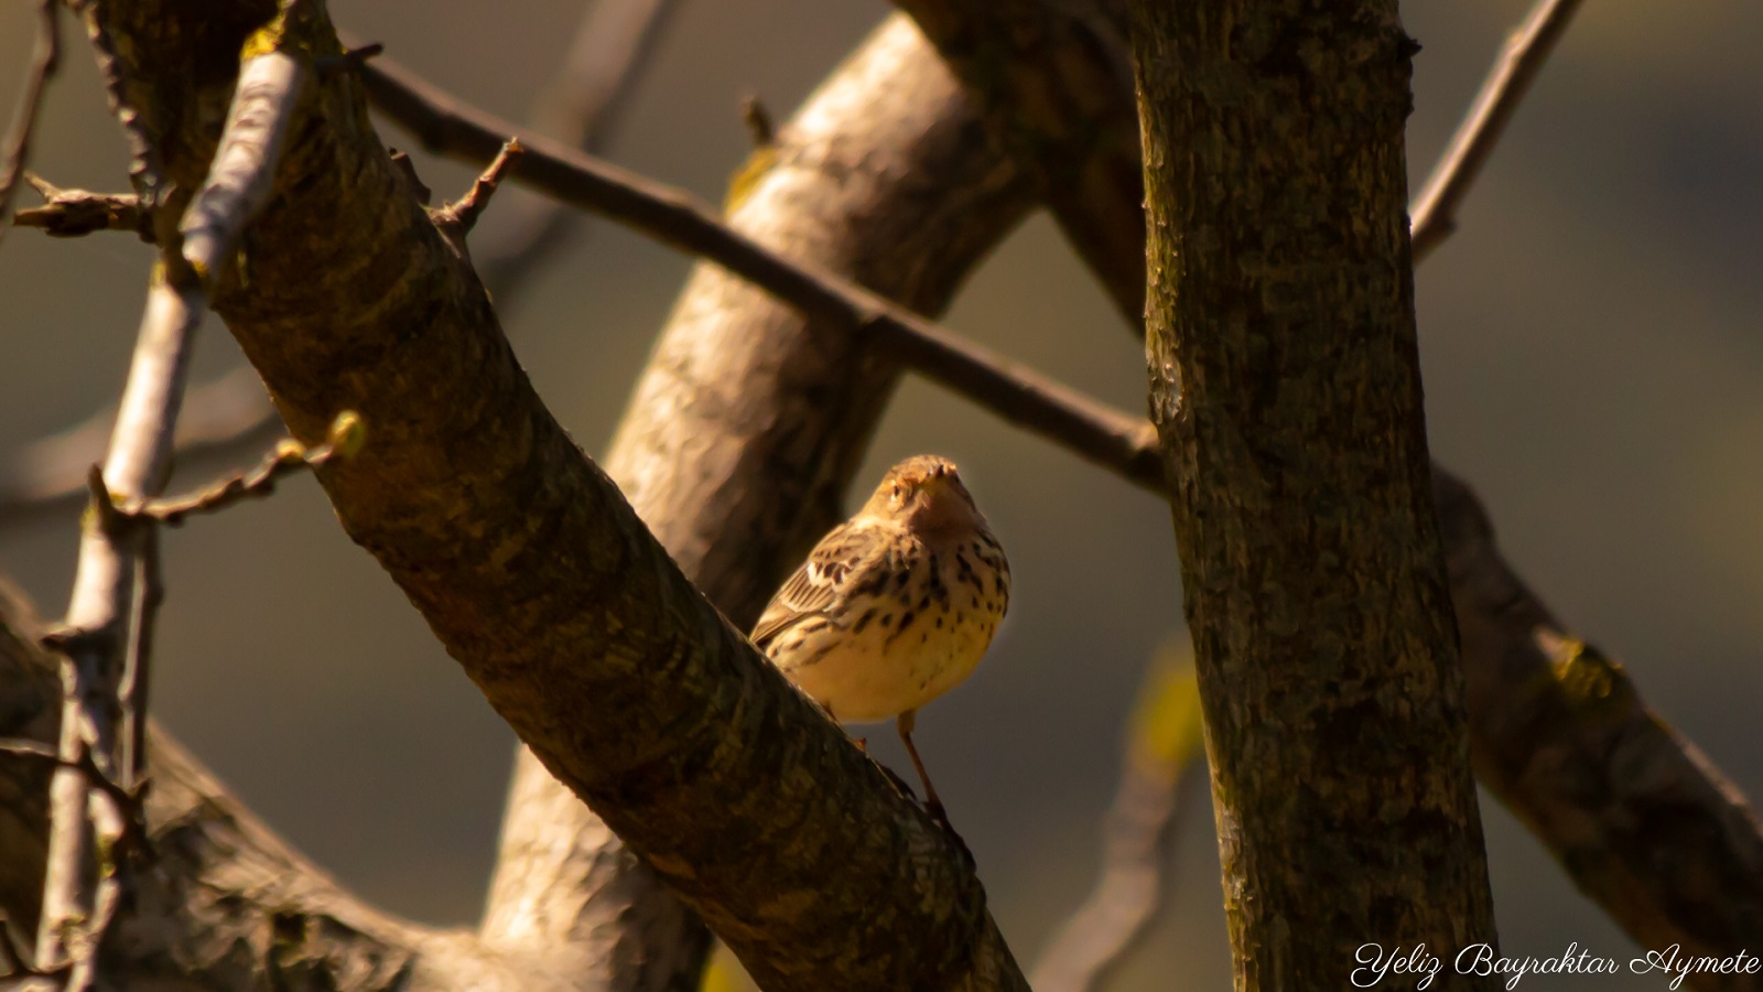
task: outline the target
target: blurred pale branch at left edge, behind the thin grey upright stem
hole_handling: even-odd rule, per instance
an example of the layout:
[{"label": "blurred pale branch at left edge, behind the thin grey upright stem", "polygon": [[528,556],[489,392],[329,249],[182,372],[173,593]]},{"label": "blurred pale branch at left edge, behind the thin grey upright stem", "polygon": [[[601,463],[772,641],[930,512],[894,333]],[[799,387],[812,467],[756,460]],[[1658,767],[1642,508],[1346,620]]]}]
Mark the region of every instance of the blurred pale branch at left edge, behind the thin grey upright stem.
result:
[{"label": "blurred pale branch at left edge, behind the thin grey upright stem", "polygon": [[[0,526],[72,507],[86,494],[86,470],[104,457],[116,410],[37,440],[0,461]],[[257,450],[280,432],[257,371],[250,365],[190,387],[178,417],[175,461]]]}]

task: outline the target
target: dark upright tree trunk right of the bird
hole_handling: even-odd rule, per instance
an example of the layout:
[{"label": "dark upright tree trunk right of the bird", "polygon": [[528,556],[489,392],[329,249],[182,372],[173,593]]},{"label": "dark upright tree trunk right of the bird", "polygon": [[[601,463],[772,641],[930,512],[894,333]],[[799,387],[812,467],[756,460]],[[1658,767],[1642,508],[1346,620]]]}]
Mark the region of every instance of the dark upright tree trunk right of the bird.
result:
[{"label": "dark upright tree trunk right of the bird", "polygon": [[1495,939],[1414,341],[1412,51],[1393,0],[1135,7],[1151,410],[1238,988]]}]

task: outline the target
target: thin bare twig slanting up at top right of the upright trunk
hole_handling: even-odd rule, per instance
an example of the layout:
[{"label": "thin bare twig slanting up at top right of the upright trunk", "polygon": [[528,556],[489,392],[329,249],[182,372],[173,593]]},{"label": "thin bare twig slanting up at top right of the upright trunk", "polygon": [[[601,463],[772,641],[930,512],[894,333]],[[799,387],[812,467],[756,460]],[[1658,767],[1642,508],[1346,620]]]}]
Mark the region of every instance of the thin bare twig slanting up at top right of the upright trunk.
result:
[{"label": "thin bare twig slanting up at top right of the upright trunk", "polygon": [[1525,23],[1506,39],[1499,64],[1481,83],[1476,104],[1410,208],[1416,265],[1456,229],[1456,208],[1578,9],[1580,0],[1537,0]]}]

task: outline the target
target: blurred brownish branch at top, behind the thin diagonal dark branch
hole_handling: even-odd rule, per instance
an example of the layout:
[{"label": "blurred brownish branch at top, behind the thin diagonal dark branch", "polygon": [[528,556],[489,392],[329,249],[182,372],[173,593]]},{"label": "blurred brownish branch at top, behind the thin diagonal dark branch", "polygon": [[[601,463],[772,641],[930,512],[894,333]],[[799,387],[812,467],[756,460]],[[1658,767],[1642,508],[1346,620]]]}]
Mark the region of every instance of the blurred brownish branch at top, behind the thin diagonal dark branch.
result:
[{"label": "blurred brownish branch at top, behind the thin diagonal dark branch", "polygon": [[[596,154],[629,106],[679,0],[591,0],[557,78],[527,131]],[[513,132],[510,132],[513,134]],[[506,300],[562,244],[569,214],[550,199],[515,199],[483,231],[478,274]]]}]

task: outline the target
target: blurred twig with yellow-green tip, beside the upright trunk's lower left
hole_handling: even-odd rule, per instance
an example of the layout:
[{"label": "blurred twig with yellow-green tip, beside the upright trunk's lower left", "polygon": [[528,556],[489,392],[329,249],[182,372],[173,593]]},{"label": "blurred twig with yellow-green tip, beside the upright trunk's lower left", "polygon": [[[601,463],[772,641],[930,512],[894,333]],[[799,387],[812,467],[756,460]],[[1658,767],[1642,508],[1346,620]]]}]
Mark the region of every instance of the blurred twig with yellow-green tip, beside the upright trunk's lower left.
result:
[{"label": "blurred twig with yellow-green tip, beside the upright trunk's lower left", "polygon": [[1107,814],[1102,876],[1035,967],[1038,992],[1091,992],[1157,920],[1176,826],[1204,803],[1206,755],[1192,651],[1151,665]]}]

